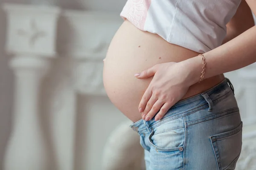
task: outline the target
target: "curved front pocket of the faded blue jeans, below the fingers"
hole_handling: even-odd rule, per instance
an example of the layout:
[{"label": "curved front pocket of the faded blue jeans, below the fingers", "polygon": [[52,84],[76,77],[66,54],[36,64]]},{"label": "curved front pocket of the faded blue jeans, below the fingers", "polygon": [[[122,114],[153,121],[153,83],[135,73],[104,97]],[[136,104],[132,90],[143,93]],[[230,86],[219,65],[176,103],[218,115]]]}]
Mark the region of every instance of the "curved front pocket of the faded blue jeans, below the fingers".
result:
[{"label": "curved front pocket of the faded blue jeans, below the fingers", "polygon": [[149,142],[157,149],[163,152],[183,151],[185,141],[185,127],[166,130],[155,133],[155,129],[149,135]]}]

